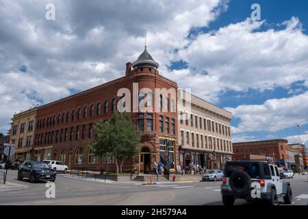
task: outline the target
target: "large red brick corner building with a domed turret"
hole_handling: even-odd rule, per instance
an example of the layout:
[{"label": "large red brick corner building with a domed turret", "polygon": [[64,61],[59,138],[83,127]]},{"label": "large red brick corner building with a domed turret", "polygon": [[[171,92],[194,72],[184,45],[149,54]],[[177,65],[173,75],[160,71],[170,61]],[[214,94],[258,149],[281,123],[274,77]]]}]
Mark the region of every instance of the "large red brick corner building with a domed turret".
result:
[{"label": "large red brick corner building with a domed turret", "polygon": [[[105,170],[108,163],[109,170],[114,170],[113,157],[95,157],[88,144],[95,139],[95,122],[107,120],[116,110],[126,110],[142,133],[142,142],[141,153],[127,160],[123,170],[136,167],[149,172],[153,162],[166,162],[168,148],[170,168],[175,168],[177,95],[157,94],[155,89],[177,92],[177,83],[159,75],[157,68],[157,62],[144,49],[136,62],[126,64],[125,76],[38,107],[33,158],[61,160],[73,169]],[[149,107],[147,112],[138,109],[142,101]],[[156,112],[155,107],[165,112]]]}]

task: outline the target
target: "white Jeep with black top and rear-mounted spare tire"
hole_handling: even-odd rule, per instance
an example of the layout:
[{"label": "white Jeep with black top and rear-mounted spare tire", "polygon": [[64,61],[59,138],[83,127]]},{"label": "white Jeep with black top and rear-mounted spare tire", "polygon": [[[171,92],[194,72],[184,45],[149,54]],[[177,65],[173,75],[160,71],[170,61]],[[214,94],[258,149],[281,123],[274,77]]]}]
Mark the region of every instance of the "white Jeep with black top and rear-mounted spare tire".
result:
[{"label": "white Jeep with black top and rear-mounted spare tire", "polygon": [[[227,162],[226,176],[222,179],[221,194],[224,205],[233,205],[235,199],[266,201],[279,205],[279,198],[285,204],[292,203],[290,182],[284,182],[276,165],[258,161]],[[259,183],[259,194],[255,194],[255,183]]]}]

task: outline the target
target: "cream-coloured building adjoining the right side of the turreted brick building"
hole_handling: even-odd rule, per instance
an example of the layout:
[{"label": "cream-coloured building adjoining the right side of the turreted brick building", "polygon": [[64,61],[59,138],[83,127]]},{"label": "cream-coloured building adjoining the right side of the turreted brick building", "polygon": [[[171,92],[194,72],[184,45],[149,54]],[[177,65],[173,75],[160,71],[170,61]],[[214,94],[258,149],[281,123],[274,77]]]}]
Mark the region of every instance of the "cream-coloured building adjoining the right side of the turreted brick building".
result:
[{"label": "cream-coloured building adjoining the right side of the turreted brick building", "polygon": [[181,168],[199,165],[223,169],[233,155],[231,112],[184,91],[179,92],[178,112]]}]

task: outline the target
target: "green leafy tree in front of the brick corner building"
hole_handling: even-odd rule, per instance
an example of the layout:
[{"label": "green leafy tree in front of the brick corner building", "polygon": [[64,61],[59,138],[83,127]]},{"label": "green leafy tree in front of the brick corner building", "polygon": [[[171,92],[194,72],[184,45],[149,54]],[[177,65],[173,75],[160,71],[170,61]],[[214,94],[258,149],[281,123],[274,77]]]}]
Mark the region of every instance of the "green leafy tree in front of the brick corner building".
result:
[{"label": "green leafy tree in front of the brick corner building", "polygon": [[116,172],[122,172],[125,159],[130,159],[140,151],[138,144],[141,134],[131,122],[130,114],[115,112],[105,123],[99,120],[94,130],[97,133],[95,142],[90,146],[97,156],[112,155],[116,162]]}]

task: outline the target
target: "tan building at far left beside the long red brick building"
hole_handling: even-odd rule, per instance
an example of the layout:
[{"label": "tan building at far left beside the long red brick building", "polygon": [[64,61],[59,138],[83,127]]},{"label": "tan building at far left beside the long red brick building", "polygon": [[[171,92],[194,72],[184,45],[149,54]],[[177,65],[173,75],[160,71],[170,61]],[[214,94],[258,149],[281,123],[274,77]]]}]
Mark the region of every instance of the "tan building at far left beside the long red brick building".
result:
[{"label": "tan building at far left beside the long red brick building", "polygon": [[10,129],[10,142],[15,144],[18,159],[31,159],[37,107],[14,114]]}]

